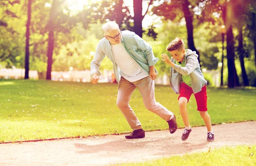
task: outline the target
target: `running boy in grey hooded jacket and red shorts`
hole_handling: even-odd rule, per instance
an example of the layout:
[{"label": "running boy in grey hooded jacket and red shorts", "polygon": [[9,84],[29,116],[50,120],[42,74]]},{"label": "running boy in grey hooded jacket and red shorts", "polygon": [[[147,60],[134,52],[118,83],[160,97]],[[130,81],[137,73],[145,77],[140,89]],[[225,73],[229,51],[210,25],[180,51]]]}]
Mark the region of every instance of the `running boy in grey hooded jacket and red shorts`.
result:
[{"label": "running boy in grey hooded jacket and red shorts", "polygon": [[186,104],[192,93],[194,93],[198,111],[207,127],[207,141],[214,141],[211,118],[207,113],[207,81],[201,72],[197,59],[198,55],[195,51],[185,50],[184,42],[179,37],[176,37],[168,45],[167,51],[171,54],[171,59],[166,54],[161,56],[163,57],[162,60],[171,66],[170,85],[176,94],[180,94],[178,97],[179,108],[185,125],[181,140],[186,141],[192,131]]}]

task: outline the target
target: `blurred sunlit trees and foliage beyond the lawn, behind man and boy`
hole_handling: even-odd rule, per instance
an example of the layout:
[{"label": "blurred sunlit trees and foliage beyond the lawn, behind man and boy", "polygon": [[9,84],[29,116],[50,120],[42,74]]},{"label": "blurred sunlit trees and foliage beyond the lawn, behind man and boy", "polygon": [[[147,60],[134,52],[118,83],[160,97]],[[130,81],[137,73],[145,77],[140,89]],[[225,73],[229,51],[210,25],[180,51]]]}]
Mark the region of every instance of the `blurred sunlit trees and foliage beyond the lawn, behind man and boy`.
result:
[{"label": "blurred sunlit trees and foliage beyond the lawn, behind man and boy", "polygon": [[[1,0],[0,79],[90,82],[103,23],[134,31],[161,59],[175,37],[210,86],[256,87],[255,0]],[[169,55],[169,54],[168,54]],[[156,84],[169,84],[161,60]],[[105,58],[99,82],[116,82]]]}]

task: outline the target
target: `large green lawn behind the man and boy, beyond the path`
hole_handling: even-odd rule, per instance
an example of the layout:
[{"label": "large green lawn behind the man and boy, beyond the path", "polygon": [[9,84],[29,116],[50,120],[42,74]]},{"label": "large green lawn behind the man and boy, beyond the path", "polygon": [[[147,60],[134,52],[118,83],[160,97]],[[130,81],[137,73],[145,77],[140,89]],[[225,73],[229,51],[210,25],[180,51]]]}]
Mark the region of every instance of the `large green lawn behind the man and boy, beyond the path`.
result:
[{"label": "large green lawn behind the man and boy, beyond the path", "polygon": [[[212,124],[256,120],[256,90],[207,88],[207,94]],[[0,80],[0,142],[131,132],[116,97],[117,84]],[[155,97],[183,127],[171,87],[156,85]],[[168,128],[145,109],[138,90],[130,105],[146,131]],[[193,95],[187,108],[191,126],[204,125]]]}]

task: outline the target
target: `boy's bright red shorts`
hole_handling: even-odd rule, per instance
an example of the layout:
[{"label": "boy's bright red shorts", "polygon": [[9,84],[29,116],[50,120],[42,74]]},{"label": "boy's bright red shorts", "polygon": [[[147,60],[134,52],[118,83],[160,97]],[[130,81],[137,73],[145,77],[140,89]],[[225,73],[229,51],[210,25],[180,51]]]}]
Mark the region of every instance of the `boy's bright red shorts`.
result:
[{"label": "boy's bright red shorts", "polygon": [[[192,93],[193,93],[192,87],[189,87],[188,85],[182,82],[180,85],[180,96],[178,97],[178,100],[180,99],[180,97],[185,97],[188,99],[188,102],[189,102],[189,98],[192,95]],[[198,106],[198,111],[207,111],[206,85],[202,87],[202,90],[200,92],[195,93],[194,95],[195,95],[196,104]]]}]

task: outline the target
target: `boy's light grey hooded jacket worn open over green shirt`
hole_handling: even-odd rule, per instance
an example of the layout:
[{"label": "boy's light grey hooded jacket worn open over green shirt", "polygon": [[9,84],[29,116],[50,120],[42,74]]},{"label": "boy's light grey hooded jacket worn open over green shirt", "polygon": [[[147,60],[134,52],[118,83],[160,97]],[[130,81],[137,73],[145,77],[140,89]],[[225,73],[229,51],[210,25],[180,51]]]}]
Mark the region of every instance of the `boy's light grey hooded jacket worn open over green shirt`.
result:
[{"label": "boy's light grey hooded jacket worn open over green shirt", "polygon": [[[200,69],[196,52],[189,49],[186,49],[185,52],[186,66],[181,67],[175,64],[174,68],[171,67],[170,85],[176,94],[180,94],[182,75],[189,75],[192,90],[194,93],[198,93],[202,90],[202,87],[207,84],[207,81],[204,79],[204,75]],[[171,58],[171,61],[174,63],[175,59]]]}]

